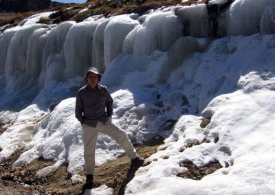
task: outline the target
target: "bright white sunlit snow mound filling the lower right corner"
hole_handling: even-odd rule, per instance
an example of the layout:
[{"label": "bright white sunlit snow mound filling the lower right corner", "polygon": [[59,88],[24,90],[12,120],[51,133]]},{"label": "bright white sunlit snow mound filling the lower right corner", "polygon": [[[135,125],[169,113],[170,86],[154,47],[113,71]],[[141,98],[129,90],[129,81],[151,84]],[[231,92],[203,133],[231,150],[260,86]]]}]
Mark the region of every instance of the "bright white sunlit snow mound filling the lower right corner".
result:
[{"label": "bright white sunlit snow mound filling the lower right corner", "polygon": [[[179,152],[179,146],[184,146],[188,139],[181,137],[166,150],[147,159],[157,161],[138,170],[127,185],[126,194],[180,194],[182,190],[186,194],[274,194],[274,105],[270,104],[274,95],[274,91],[259,90],[249,95],[236,91],[230,97],[224,97],[229,98],[228,101],[219,106],[205,130],[209,130],[208,137],[219,135],[217,144],[213,141]],[[268,106],[261,105],[260,111],[255,113],[263,98],[267,98]],[[214,99],[212,104],[214,102],[220,102],[219,98]],[[187,136],[194,130],[187,128],[184,132]],[[168,159],[161,158],[164,156]],[[182,180],[176,176],[185,171],[177,170],[181,161],[189,160],[200,167],[213,159],[221,161],[221,165],[222,161],[228,161],[231,166],[225,168],[223,165],[221,170],[203,177],[201,181]]]}]

